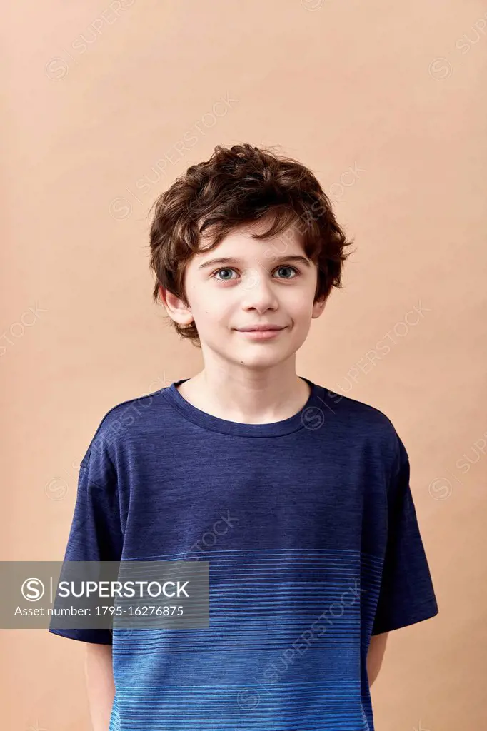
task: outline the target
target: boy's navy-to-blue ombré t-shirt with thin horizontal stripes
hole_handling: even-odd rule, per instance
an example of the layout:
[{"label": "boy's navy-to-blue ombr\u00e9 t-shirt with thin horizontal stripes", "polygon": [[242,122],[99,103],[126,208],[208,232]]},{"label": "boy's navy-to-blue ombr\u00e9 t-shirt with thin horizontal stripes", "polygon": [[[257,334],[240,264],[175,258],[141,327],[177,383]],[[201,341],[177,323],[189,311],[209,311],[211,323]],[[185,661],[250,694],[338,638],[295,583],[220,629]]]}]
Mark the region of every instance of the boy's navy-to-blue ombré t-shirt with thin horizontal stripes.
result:
[{"label": "boy's navy-to-blue ombr\u00e9 t-shirt with thin horizontal stripes", "polygon": [[110,731],[373,731],[371,635],[438,613],[404,444],[306,378],[269,424],[197,409],[184,380],[102,418],[64,558],[208,561],[209,629],[50,632],[113,645]]}]

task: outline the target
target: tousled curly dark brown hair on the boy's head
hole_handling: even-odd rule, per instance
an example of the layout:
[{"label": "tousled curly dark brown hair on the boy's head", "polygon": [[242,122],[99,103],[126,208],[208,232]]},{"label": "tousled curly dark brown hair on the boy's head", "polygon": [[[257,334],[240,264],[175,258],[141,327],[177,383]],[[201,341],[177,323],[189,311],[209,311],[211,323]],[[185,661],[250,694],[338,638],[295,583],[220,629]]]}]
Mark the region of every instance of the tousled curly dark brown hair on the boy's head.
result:
[{"label": "tousled curly dark brown hair on the boy's head", "polygon": [[[314,301],[341,287],[341,270],[348,257],[344,231],[336,221],[331,201],[314,174],[295,159],[271,148],[249,144],[217,145],[210,159],[192,165],[176,178],[151,207],[150,266],[156,275],[153,298],[164,287],[187,305],[184,292],[186,263],[200,251],[214,249],[230,231],[270,219],[271,227],[253,237],[271,238],[297,226],[303,250],[318,269]],[[211,229],[211,245],[200,247]],[[267,255],[268,252],[266,252]],[[195,322],[176,332],[199,345]]]}]

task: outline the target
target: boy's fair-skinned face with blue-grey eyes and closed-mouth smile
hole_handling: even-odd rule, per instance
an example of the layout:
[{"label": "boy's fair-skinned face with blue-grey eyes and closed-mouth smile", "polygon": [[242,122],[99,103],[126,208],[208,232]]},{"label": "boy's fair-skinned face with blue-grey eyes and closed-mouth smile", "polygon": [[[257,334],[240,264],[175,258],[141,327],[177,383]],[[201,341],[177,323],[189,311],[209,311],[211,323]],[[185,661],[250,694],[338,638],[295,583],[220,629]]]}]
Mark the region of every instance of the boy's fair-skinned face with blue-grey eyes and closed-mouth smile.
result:
[{"label": "boy's fair-skinned face with blue-grey eyes and closed-mouth smile", "polygon": [[[263,230],[252,226],[252,232]],[[317,267],[304,254],[295,227],[266,240],[249,231],[230,232],[214,249],[189,260],[184,278],[189,307],[164,289],[161,295],[175,322],[188,325],[194,319],[205,362],[269,368],[301,347],[325,301],[313,301]],[[241,331],[254,325],[282,329],[272,335]]]}]

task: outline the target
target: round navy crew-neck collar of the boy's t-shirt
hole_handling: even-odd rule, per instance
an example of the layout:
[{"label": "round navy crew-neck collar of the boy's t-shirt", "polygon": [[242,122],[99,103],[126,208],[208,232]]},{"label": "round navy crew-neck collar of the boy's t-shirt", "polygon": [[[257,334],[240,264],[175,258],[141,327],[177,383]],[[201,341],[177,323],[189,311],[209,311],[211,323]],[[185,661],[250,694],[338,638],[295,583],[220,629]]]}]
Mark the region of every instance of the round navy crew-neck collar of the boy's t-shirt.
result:
[{"label": "round navy crew-neck collar of the boy's t-shirt", "polygon": [[213,414],[208,414],[201,409],[197,409],[196,406],[186,401],[186,398],[177,389],[181,383],[189,381],[189,378],[174,381],[170,386],[162,389],[162,395],[186,419],[205,429],[219,431],[224,434],[233,434],[234,436],[282,436],[299,431],[305,427],[316,429],[317,425],[322,425],[323,422],[324,409],[322,405],[325,400],[325,389],[304,376],[299,376],[299,378],[305,381],[311,388],[311,393],[306,404],[296,414],[293,414],[287,419],[273,421],[268,424],[245,424],[220,419]]}]

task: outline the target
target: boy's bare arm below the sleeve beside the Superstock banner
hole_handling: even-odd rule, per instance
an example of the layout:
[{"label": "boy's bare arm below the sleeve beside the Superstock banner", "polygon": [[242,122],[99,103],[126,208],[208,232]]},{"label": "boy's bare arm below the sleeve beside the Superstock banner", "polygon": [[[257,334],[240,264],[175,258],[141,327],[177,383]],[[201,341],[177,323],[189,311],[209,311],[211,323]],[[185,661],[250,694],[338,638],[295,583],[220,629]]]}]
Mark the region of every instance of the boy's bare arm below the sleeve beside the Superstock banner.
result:
[{"label": "boy's bare arm below the sleeve beside the Superstock banner", "polygon": [[85,676],[93,731],[108,731],[115,697],[112,645],[86,643]]}]

